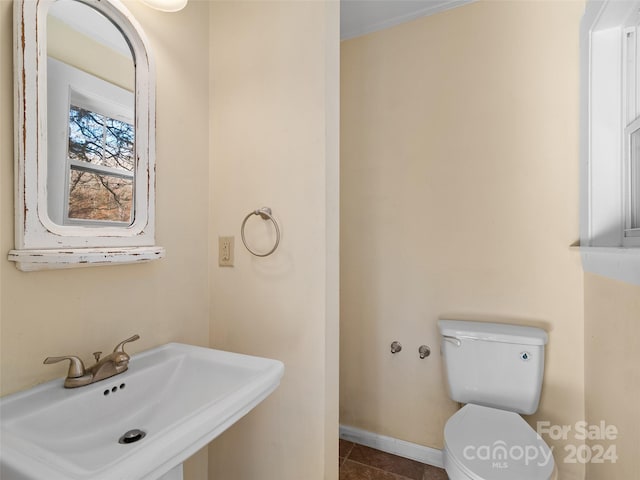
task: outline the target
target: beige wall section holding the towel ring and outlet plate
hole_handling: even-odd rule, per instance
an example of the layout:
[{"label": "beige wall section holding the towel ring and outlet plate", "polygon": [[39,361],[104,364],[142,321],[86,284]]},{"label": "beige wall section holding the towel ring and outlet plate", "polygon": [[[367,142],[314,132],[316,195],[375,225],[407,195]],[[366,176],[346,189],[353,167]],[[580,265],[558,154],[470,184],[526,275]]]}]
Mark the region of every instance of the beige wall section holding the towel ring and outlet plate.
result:
[{"label": "beige wall section holding the towel ring and outlet plate", "polygon": [[[338,4],[211,8],[211,345],[280,359],[280,387],[214,441],[210,478],[337,478]],[[278,250],[252,257],[269,206]],[[247,240],[265,251],[268,224]],[[217,265],[235,236],[235,267]]]}]

